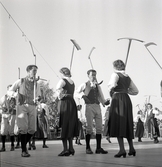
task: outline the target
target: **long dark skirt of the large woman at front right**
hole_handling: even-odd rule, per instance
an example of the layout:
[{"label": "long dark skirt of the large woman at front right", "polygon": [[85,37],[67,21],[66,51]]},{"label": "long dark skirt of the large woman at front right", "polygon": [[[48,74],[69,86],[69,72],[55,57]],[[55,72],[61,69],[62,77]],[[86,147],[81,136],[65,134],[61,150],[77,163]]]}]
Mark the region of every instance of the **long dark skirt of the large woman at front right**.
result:
[{"label": "long dark skirt of the large woman at front right", "polygon": [[126,93],[114,93],[108,123],[110,137],[134,139],[132,102]]}]

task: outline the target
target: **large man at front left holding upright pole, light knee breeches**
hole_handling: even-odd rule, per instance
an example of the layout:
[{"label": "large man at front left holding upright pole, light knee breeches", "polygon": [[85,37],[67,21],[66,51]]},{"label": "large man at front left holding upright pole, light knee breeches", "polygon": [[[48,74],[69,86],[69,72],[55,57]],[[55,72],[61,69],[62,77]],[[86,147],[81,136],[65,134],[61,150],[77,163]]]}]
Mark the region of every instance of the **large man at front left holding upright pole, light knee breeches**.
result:
[{"label": "large man at front left holding upright pole, light knee breeches", "polygon": [[27,66],[27,76],[18,79],[8,90],[9,96],[17,97],[16,119],[21,135],[22,157],[30,156],[26,144],[36,131],[36,99],[41,96],[35,78],[37,69],[36,65]]}]

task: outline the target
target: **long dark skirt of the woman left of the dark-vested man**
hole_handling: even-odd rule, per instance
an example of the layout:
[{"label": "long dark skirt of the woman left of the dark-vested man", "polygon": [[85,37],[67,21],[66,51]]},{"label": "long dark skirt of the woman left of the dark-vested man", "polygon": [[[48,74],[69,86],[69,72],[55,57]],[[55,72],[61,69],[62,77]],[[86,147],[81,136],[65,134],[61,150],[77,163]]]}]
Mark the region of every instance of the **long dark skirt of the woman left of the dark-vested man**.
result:
[{"label": "long dark skirt of the woman left of the dark-vested man", "polygon": [[58,102],[59,127],[61,139],[73,138],[79,135],[77,106],[72,97],[64,97]]}]

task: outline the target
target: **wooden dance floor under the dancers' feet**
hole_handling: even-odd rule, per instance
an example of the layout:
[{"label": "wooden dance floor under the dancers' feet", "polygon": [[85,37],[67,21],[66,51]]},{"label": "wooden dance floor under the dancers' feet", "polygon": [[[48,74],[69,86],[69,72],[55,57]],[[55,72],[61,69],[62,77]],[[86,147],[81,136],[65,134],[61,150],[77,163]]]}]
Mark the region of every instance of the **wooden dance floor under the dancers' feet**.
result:
[{"label": "wooden dance floor under the dancers' feet", "polygon": [[[75,155],[69,157],[58,157],[62,151],[60,140],[49,140],[49,148],[42,148],[42,141],[36,141],[36,150],[31,150],[31,157],[21,157],[21,149],[10,151],[10,143],[6,143],[6,151],[0,153],[0,167],[162,167],[162,138],[159,143],[154,144],[153,140],[143,138],[143,142],[134,139],[136,156],[126,158],[114,158],[118,152],[116,139],[111,138],[112,143],[102,139],[102,147],[108,154],[85,153],[85,141],[83,145],[74,144]],[[74,141],[75,143],[75,141]],[[95,139],[91,140],[91,148],[95,152]],[[128,144],[125,140],[126,151]]]}]

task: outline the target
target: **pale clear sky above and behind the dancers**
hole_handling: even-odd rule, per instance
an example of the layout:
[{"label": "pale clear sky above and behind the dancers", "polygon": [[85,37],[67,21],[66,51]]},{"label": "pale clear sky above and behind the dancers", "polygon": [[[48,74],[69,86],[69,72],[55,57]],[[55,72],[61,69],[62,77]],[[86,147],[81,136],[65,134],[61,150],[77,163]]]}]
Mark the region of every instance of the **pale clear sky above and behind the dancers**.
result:
[{"label": "pale clear sky above and behind the dancers", "polygon": [[[6,12],[2,4],[9,12]],[[0,3],[0,96],[6,87],[26,76],[26,67],[35,63],[29,41],[36,55],[38,76],[48,80],[55,90],[59,69],[70,67],[75,39],[81,50],[74,50],[72,79],[76,88],[88,80],[91,68],[97,70],[98,81],[108,97],[107,84],[113,72],[112,62],[125,62],[128,40],[132,41],[126,73],[139,89],[130,96],[134,115],[150,96],[154,107],[162,110],[160,82],[162,70],[144,44],[154,42],[148,49],[162,66],[162,1],[161,0],[1,0]],[[17,24],[17,25],[16,25]],[[23,33],[22,33],[23,31]],[[161,100],[161,102],[160,102]],[[106,108],[105,108],[106,109]],[[103,110],[105,110],[103,109]]]}]

